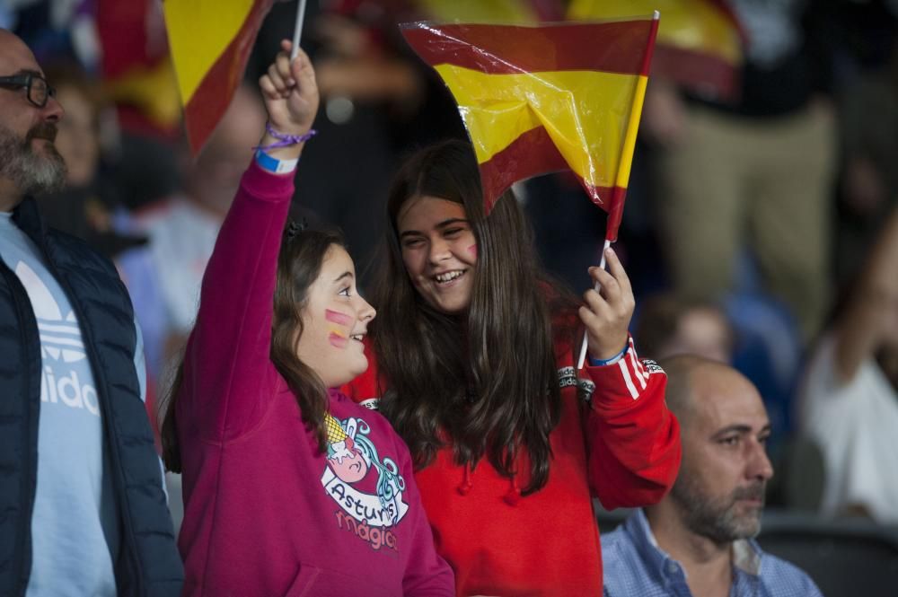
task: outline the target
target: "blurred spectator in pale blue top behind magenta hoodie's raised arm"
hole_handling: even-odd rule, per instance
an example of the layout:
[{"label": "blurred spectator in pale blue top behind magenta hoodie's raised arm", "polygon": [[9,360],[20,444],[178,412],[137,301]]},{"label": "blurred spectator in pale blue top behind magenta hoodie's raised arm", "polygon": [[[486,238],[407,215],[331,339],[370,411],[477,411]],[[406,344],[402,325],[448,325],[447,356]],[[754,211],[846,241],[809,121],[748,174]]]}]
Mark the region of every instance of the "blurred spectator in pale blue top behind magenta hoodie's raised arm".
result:
[{"label": "blurred spectator in pale blue top behind magenta hoodie's raised arm", "polygon": [[203,272],[265,118],[258,93],[238,88],[202,153],[186,166],[183,191],[134,216],[134,230],[149,243],[124,253],[118,265],[155,382],[193,325]]}]

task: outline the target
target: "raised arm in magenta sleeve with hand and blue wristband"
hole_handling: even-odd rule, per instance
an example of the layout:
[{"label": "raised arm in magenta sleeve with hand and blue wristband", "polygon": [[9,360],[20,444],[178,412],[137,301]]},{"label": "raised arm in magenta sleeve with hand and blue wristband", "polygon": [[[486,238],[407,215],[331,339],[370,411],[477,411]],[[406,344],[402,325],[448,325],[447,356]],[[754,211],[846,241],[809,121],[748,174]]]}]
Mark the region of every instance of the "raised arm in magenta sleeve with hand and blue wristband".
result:
[{"label": "raised arm in magenta sleeve with hand and blue wristband", "polygon": [[264,155],[243,174],[218,234],[185,354],[180,408],[189,409],[200,434],[212,441],[254,426],[277,380],[269,360],[277,255],[293,196],[295,162],[290,161],[299,158],[304,144],[273,146],[278,139],[270,131],[303,136],[318,109],[309,58],[300,51],[291,63],[289,46],[284,42],[284,51],[260,78],[269,113],[260,142]]}]

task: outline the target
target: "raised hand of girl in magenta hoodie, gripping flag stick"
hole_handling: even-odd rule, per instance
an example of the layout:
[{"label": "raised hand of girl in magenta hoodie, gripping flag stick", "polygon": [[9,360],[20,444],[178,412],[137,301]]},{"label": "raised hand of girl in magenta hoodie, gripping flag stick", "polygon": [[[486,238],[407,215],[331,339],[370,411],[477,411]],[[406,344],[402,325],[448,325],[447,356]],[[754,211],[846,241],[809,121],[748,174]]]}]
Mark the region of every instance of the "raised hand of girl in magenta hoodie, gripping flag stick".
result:
[{"label": "raised hand of girl in magenta hoodie, gripping flag stick", "polygon": [[[281,41],[282,51],[260,77],[259,87],[271,127],[284,135],[304,135],[318,112],[318,84],[312,62],[302,49],[290,60],[292,48],[289,40]],[[265,139],[262,145],[268,145]]]}]

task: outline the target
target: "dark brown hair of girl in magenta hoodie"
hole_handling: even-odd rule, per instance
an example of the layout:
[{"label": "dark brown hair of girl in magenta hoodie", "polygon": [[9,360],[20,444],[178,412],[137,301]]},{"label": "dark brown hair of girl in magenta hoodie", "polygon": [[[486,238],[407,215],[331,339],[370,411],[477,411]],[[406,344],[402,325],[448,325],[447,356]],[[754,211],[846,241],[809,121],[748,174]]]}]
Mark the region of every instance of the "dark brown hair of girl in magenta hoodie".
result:
[{"label": "dark brown hair of girl in magenta hoodie", "polygon": [[[303,422],[314,431],[321,452],[324,452],[327,437],[324,426],[328,408],[327,388],[318,373],[296,356],[296,343],[303,334],[303,311],[309,287],[318,278],[321,264],[334,246],[346,248],[339,232],[300,231],[295,224],[287,224],[277,255],[274,316],[271,319],[271,362],[293,391]],[[183,374],[182,359],[162,406],[163,461],[165,467],[173,472],[181,471],[175,411]]]}]

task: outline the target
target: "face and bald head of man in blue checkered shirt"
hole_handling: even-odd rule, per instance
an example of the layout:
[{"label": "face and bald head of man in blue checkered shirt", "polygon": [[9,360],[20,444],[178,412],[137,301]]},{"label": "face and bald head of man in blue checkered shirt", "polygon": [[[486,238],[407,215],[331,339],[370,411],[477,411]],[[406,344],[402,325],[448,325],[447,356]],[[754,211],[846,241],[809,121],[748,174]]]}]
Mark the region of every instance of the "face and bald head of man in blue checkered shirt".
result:
[{"label": "face and bald head of man in blue checkered shirt", "polygon": [[741,374],[704,365],[692,374],[682,413],[682,465],[671,498],[686,526],[718,543],[761,530],[764,489],[773,476],[765,443],[770,419]]}]

